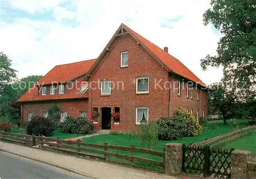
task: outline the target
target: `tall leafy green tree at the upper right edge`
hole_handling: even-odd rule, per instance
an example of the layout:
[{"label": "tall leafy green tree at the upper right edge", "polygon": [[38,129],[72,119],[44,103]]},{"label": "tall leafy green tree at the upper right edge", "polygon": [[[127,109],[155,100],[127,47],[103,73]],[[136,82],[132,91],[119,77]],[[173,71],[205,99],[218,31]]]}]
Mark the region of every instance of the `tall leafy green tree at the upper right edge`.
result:
[{"label": "tall leafy green tree at the upper right edge", "polygon": [[244,87],[255,92],[256,0],[211,0],[210,4],[212,8],[203,15],[204,25],[212,23],[223,37],[218,43],[218,55],[202,59],[202,68],[222,65],[229,80],[241,86],[246,82]]}]

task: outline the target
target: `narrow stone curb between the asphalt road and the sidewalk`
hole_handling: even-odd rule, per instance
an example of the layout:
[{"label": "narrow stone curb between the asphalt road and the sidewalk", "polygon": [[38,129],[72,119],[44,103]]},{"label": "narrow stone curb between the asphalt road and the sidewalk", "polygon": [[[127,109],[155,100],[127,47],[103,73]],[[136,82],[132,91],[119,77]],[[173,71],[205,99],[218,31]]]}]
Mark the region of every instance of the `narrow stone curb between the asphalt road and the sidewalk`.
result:
[{"label": "narrow stone curb between the asphalt road and the sidewalk", "polygon": [[53,167],[57,167],[57,168],[60,168],[62,170],[66,170],[66,171],[69,171],[69,172],[72,172],[72,173],[76,173],[76,174],[79,174],[79,175],[82,175],[82,176],[98,179],[98,178],[93,177],[93,176],[91,176],[89,174],[80,173],[78,171],[72,170],[72,169],[67,168],[67,167],[59,166],[57,164],[53,164],[53,163],[50,163],[50,162],[46,162],[46,161],[43,161],[43,160],[39,160],[39,159],[35,159],[35,158],[32,158],[32,157],[28,157],[28,156],[22,156],[22,155],[19,155],[19,154],[15,154],[14,152],[11,152],[11,151],[3,150],[1,148],[0,148],[0,151],[4,151],[4,152],[7,152],[7,153],[15,155],[15,156],[19,156],[19,157],[23,157],[23,158],[26,158],[26,159],[30,159],[30,160],[33,160],[33,161],[36,161],[36,162],[40,162],[40,163],[43,163],[43,164],[47,164],[47,165],[50,165],[50,166],[53,166]]}]

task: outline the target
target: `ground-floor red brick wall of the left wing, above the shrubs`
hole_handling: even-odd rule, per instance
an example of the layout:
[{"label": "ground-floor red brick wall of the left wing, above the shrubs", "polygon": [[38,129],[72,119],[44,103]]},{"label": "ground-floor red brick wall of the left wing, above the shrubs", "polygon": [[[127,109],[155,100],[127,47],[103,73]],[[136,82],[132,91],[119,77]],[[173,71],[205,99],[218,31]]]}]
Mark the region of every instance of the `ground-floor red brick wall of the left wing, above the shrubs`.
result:
[{"label": "ground-floor red brick wall of the left wing, above the shrubs", "polygon": [[68,116],[78,117],[79,111],[86,111],[88,114],[88,100],[66,100],[66,101],[38,101],[23,104],[23,119],[28,120],[28,112],[33,112],[34,116],[42,116],[49,108],[57,106],[60,112],[67,112]]}]

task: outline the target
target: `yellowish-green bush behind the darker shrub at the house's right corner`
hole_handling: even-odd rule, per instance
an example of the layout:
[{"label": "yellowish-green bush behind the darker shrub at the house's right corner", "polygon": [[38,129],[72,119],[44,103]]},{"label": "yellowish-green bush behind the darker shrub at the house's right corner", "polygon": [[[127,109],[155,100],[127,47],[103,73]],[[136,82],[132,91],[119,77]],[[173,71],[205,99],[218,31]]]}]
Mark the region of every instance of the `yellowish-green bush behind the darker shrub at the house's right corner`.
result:
[{"label": "yellowish-green bush behind the darker shrub at the house's right corner", "polygon": [[202,133],[202,126],[197,122],[197,119],[193,114],[186,112],[185,110],[178,109],[174,112],[174,117],[184,120],[186,124],[186,136],[198,136]]}]

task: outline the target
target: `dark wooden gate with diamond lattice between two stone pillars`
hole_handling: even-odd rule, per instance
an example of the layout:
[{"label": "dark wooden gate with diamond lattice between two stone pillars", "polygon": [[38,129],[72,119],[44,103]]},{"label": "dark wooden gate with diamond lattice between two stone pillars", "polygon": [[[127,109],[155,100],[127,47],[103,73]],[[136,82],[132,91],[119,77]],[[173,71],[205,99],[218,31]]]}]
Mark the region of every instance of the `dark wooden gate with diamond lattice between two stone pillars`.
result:
[{"label": "dark wooden gate with diamond lattice between two stone pillars", "polygon": [[229,179],[233,150],[183,144],[182,172]]}]

